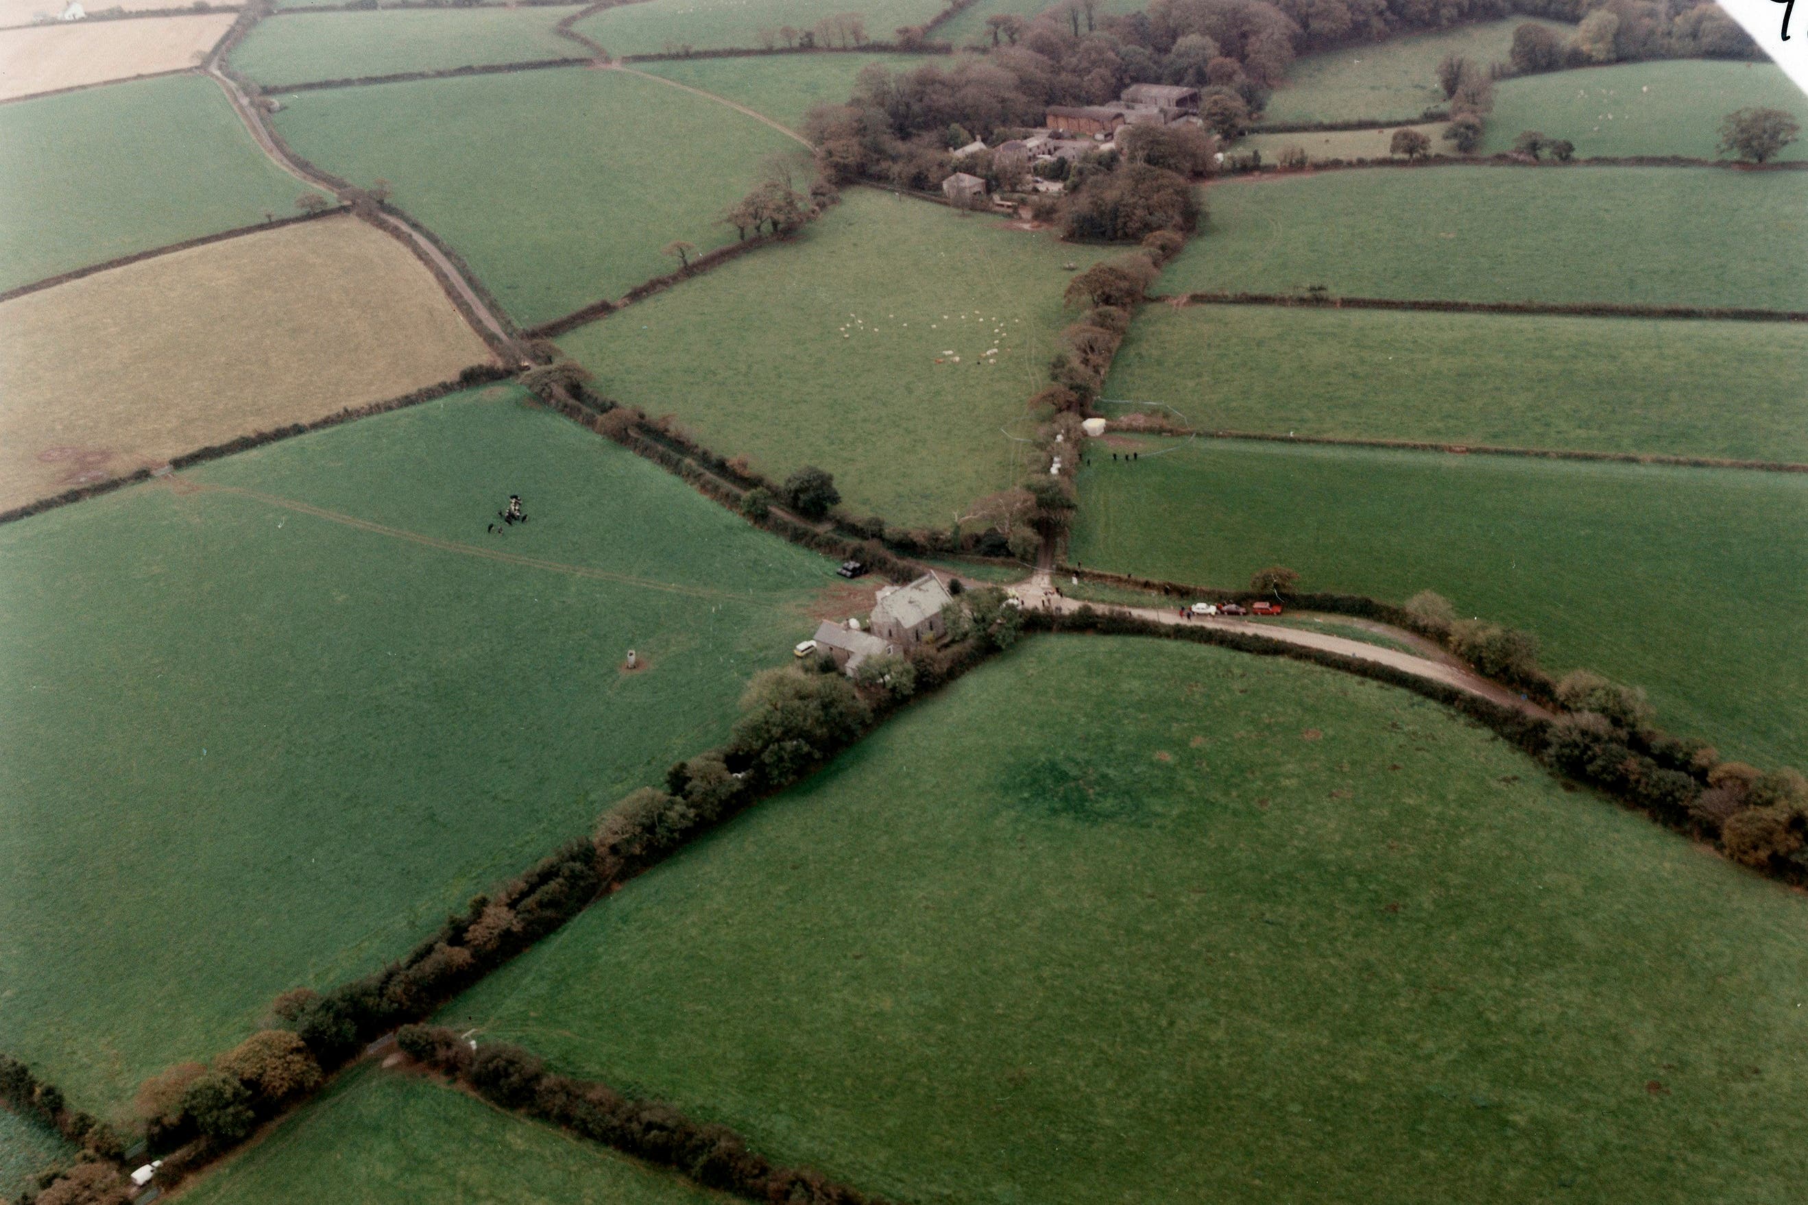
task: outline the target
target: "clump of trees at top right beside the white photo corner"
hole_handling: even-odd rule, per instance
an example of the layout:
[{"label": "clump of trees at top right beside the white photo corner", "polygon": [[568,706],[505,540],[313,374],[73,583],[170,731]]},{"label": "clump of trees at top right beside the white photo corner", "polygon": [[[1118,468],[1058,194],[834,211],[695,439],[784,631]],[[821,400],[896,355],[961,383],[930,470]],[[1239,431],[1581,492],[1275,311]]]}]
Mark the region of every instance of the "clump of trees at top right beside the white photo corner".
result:
[{"label": "clump of trees at top right beside the white photo corner", "polygon": [[1589,0],[1573,11],[1562,5],[1560,18],[1578,22],[1575,34],[1531,22],[1513,31],[1513,74],[1653,58],[1759,58],[1757,43],[1718,4]]}]

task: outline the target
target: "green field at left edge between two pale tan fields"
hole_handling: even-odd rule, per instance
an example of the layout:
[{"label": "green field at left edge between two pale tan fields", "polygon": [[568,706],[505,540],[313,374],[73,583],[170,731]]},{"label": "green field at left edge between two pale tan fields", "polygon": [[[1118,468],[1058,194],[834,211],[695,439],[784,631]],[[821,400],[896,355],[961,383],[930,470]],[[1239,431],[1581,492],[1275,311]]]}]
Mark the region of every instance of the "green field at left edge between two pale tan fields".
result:
[{"label": "green field at left edge between two pale tan fields", "polygon": [[0,105],[0,291],[295,213],[212,79],[170,76]]}]

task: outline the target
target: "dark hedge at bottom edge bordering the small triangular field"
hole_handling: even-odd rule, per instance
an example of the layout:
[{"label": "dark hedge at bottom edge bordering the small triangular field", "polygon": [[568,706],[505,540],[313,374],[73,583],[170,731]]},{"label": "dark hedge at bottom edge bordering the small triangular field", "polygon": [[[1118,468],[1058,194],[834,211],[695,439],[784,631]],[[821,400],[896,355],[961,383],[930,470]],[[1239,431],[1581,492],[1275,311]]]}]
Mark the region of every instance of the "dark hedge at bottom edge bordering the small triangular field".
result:
[{"label": "dark hedge at bottom edge bordering the small triangular field", "polygon": [[805,1167],[779,1167],[749,1151],[727,1126],[700,1124],[678,1109],[636,1100],[593,1080],[551,1075],[546,1064],[501,1042],[476,1051],[443,1026],[410,1024],[396,1035],[403,1053],[486,1100],[671,1167],[691,1180],[750,1201],[790,1205],[884,1205]]}]

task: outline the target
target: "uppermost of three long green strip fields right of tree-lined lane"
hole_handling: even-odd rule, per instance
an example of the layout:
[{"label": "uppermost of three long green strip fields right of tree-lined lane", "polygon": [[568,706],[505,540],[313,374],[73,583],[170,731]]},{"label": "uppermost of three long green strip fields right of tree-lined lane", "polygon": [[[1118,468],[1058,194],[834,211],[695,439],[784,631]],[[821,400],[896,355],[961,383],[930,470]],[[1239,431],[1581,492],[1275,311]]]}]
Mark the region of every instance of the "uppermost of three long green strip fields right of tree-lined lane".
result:
[{"label": "uppermost of three long green strip fields right of tree-lined lane", "polygon": [[1204,201],[1161,293],[1808,309],[1808,273],[1774,255],[1808,233],[1799,172],[1372,168],[1226,181]]}]

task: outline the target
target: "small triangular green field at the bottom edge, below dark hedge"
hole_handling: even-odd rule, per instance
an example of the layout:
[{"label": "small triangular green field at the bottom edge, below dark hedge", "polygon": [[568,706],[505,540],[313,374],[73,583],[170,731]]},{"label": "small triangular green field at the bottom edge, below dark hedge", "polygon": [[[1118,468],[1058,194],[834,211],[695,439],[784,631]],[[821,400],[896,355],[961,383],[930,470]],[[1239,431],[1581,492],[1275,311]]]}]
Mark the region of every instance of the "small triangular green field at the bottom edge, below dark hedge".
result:
[{"label": "small triangular green field at the bottom edge, below dark hedge", "polygon": [[193,1205],[725,1205],[443,1080],[356,1068],[183,1192]]}]

